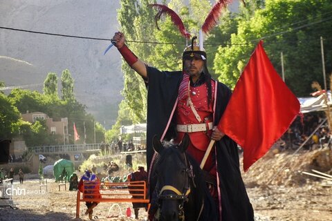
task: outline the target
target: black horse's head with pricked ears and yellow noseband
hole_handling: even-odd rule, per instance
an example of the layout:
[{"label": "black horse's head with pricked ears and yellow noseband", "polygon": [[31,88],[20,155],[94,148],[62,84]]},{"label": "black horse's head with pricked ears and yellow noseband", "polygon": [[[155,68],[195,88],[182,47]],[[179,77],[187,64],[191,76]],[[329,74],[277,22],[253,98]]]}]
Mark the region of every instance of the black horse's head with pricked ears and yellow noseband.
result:
[{"label": "black horse's head with pricked ears and yellow noseband", "polygon": [[165,147],[154,137],[154,150],[160,158],[156,162],[158,207],[160,220],[183,220],[183,204],[190,194],[190,179],[193,178],[192,166],[185,151],[190,138],[187,134],[180,144]]}]

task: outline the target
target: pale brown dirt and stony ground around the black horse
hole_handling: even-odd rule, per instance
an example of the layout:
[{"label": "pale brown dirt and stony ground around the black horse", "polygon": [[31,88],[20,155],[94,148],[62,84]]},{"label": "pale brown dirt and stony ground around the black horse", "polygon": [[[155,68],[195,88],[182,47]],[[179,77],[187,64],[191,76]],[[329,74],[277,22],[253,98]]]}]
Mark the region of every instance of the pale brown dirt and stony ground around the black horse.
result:
[{"label": "pale brown dirt and stony ground around the black horse", "polygon": [[[332,186],[322,186],[323,179],[301,173],[311,169],[331,175],[332,151],[299,151],[295,155],[270,151],[243,173],[255,220],[332,220]],[[75,219],[76,191],[64,191],[64,186],[59,191],[54,180],[48,180],[47,192],[45,188],[40,191],[36,175],[26,178],[24,184],[14,182],[15,189],[26,190],[25,195],[12,197],[17,209],[0,207],[0,220],[89,220],[84,203],[80,204],[81,219]],[[94,220],[135,220],[125,216],[131,204],[118,205],[98,204]],[[144,209],[140,209],[140,220],[147,220]]]}]

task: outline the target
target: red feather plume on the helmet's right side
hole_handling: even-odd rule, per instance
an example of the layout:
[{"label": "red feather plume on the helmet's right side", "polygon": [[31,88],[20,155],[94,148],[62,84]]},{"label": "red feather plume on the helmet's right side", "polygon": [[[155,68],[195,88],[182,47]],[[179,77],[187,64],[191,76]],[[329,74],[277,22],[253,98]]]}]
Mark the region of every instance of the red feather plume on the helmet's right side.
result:
[{"label": "red feather plume on the helmet's right side", "polygon": [[231,2],[232,0],[219,0],[214,4],[212,10],[210,11],[208,17],[206,17],[202,26],[202,30],[205,34],[210,32],[210,30],[216,25],[216,22],[218,21],[221,14],[221,9],[226,8],[226,6],[228,6],[228,4]]}]

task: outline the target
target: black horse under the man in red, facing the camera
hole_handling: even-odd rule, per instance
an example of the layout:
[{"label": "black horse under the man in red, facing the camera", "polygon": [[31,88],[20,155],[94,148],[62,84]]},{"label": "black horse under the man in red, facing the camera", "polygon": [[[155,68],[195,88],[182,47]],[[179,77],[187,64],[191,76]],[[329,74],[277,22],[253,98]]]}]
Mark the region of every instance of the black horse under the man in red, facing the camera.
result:
[{"label": "black horse under the man in red, facing the camera", "polygon": [[156,183],[156,199],[152,200],[158,205],[155,220],[217,220],[216,206],[199,164],[185,152],[189,142],[187,134],[181,144],[164,146],[154,137],[154,149],[158,152],[151,176],[152,183]]}]

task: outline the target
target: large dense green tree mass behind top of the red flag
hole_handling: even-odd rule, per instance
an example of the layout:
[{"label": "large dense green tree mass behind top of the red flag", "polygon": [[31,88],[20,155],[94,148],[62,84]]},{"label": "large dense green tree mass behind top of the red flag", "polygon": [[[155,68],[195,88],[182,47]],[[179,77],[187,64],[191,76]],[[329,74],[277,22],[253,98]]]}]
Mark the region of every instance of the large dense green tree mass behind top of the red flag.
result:
[{"label": "large dense green tree mass behind top of the red flag", "polygon": [[[284,54],[286,84],[297,96],[312,91],[311,82],[322,82],[320,36],[331,36],[332,21],[329,1],[266,0],[247,1],[254,6],[242,9],[237,33],[231,36],[231,46],[219,46],[214,59],[214,71],[219,80],[234,87],[252,50],[259,39],[277,72],[281,73],[280,54]],[[255,8],[258,7],[258,8]],[[254,8],[255,10],[253,10]],[[331,41],[324,41],[327,57],[332,57]],[[331,62],[326,64],[331,72]]]}]

